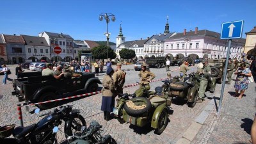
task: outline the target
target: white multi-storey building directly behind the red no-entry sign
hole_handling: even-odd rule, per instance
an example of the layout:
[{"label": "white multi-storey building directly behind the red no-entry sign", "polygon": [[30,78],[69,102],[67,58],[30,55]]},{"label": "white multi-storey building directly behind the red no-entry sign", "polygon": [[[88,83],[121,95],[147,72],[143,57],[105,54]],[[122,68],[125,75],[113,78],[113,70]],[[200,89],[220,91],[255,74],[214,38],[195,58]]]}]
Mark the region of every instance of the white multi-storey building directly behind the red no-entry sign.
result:
[{"label": "white multi-storey building directly behind the red no-entry sign", "polygon": [[[38,36],[44,37],[47,44],[51,45],[50,57],[52,61],[57,61],[59,56],[59,61],[71,61],[74,58],[73,51],[73,38],[70,35],[63,35],[63,33],[50,33],[42,32]],[[61,47],[61,53],[55,54],[53,48],[55,46]]]}]

